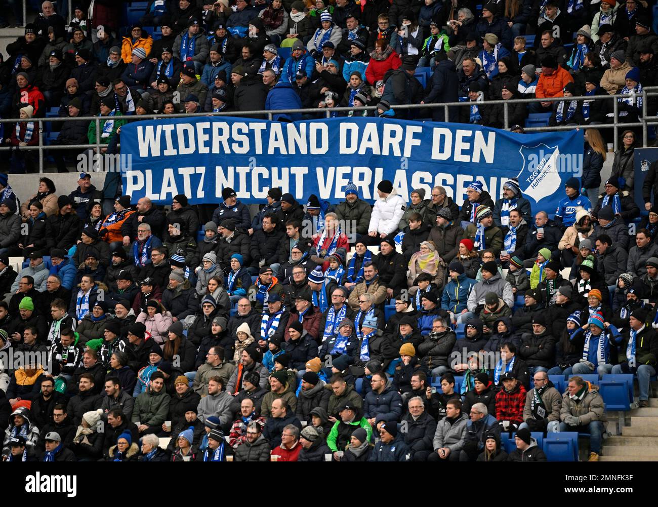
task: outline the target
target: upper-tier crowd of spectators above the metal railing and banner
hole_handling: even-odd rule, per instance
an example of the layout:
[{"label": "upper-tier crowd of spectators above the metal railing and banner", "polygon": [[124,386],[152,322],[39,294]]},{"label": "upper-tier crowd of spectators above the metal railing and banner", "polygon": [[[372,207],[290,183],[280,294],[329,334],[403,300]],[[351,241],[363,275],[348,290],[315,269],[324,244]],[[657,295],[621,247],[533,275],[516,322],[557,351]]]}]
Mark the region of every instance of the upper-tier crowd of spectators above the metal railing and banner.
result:
[{"label": "upper-tier crowd of spectators above the metal railing and banner", "polygon": [[[45,144],[100,136],[110,153],[127,117],[153,113],[308,108],[321,111],[274,119],[376,115],[501,128],[503,105],[488,101],[616,93],[632,94],[617,99],[620,122],[656,112],[655,99],[642,97],[658,75],[644,0],[151,0],[130,26],[116,26],[120,3],[88,4],[74,5],[67,25],[43,2],[0,63],[0,117],[25,120],[2,136],[17,169],[36,172],[36,152],[20,150],[39,142],[29,120],[58,108],[59,117],[103,117],[100,132],[95,122],[61,122]],[[469,105],[447,117],[443,107],[395,109],[457,101]],[[529,113],[551,113],[551,125],[611,123],[613,102],[515,104],[509,126],[522,131]],[[327,111],[365,105],[377,109]],[[80,151],[51,155],[66,171]]]}]

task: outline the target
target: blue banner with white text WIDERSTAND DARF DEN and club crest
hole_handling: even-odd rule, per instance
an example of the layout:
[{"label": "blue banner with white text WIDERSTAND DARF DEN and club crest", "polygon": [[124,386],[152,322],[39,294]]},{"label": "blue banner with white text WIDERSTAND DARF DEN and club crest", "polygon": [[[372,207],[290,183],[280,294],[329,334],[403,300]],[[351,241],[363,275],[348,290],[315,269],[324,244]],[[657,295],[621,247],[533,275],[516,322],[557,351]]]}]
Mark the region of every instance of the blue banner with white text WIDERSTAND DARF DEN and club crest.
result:
[{"label": "blue banner with white text WIDERSTAND DARF DEN and club crest", "polygon": [[553,213],[563,183],[582,174],[582,131],[512,134],[467,124],[380,118],[294,123],[232,117],[145,120],[122,127],[121,153],[131,156],[124,194],[170,203],[219,203],[230,186],[244,203],[262,203],[270,187],[304,204],[311,194],[343,200],[348,181],[370,203],[381,180],[407,202],[413,189],[445,187],[459,205],[473,180],[493,200],[509,178],[533,211]]}]

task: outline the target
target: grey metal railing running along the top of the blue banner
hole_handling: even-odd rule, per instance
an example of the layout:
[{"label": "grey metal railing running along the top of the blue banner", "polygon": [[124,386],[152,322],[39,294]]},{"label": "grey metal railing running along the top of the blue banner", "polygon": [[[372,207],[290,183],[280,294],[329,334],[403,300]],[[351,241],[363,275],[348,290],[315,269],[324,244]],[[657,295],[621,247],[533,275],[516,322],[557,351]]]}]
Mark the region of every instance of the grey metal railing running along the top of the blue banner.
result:
[{"label": "grey metal railing running along the top of the blue banner", "polygon": [[[503,113],[504,113],[504,118],[503,118],[503,126],[505,129],[509,128],[509,111],[508,111],[508,106],[510,104],[518,104],[518,103],[524,103],[524,104],[529,104],[529,103],[537,103],[537,102],[564,102],[564,101],[597,101],[597,100],[611,100],[614,99],[613,102],[613,123],[612,124],[607,124],[607,123],[602,123],[602,124],[594,124],[594,125],[580,125],[578,128],[612,128],[613,129],[613,149],[617,149],[618,145],[618,130],[619,130],[619,111],[618,111],[618,101],[617,99],[620,98],[626,98],[626,97],[633,97],[636,96],[636,93],[625,93],[625,94],[615,94],[615,95],[592,95],[592,96],[578,96],[578,97],[545,97],[545,98],[530,98],[530,99],[509,99],[509,100],[504,100],[504,99],[495,99],[495,100],[486,100],[483,101],[481,104],[483,105],[503,105]],[[643,104],[642,104],[642,112],[643,112],[643,117],[640,119],[639,122],[633,122],[633,123],[623,123],[622,127],[623,128],[628,128],[628,127],[642,127],[642,134],[643,134],[643,146],[646,146],[647,144],[647,126],[649,125],[658,125],[658,116],[653,116],[653,117],[645,117],[645,113],[647,110],[647,97],[649,96],[655,96],[658,95],[658,86],[648,86],[647,88],[643,88],[642,90],[642,97],[643,97]],[[443,111],[445,114],[445,117],[447,117],[448,109],[450,107],[466,107],[472,105],[472,102],[470,101],[461,101],[461,102],[449,102],[449,103],[427,103],[427,104],[401,104],[401,105],[392,105],[391,109],[393,111],[395,110],[407,110],[407,109],[438,109],[439,107],[443,107]],[[329,118],[331,113],[334,112],[347,112],[347,111],[374,111],[376,110],[376,106],[364,106],[364,107],[332,107],[330,109],[326,109],[326,117]],[[288,113],[305,113],[305,114],[311,114],[311,115],[318,115],[322,114],[322,108],[313,108],[313,109],[276,109],[276,110],[256,110],[256,111],[228,111],[228,112],[222,112],[222,113],[176,113],[173,115],[162,115],[162,114],[151,114],[151,115],[124,115],[119,117],[120,119],[124,119],[130,122],[134,121],[141,121],[141,120],[150,120],[150,119],[162,119],[163,116],[166,116],[167,118],[191,118],[191,117],[252,117],[254,115],[258,116],[266,116],[269,120],[272,120],[274,115],[281,115],[281,114],[288,114]],[[100,142],[100,122],[101,120],[105,119],[107,117],[100,117],[100,116],[88,116],[88,117],[53,117],[53,118],[33,118],[30,119],[32,122],[38,122],[39,124],[39,144],[37,146],[23,146],[20,147],[20,150],[38,150],[39,151],[39,173],[43,173],[43,151],[44,149],[95,149],[95,151],[100,151],[101,147],[104,147],[106,145],[101,144]],[[116,117],[115,117],[116,118]],[[96,143],[95,144],[75,144],[75,145],[44,145],[43,144],[43,123],[44,122],[63,122],[63,121],[78,121],[78,120],[85,120],[89,122],[95,122],[96,124]],[[0,119],[0,123],[16,123],[16,122],[24,122],[25,120],[21,120],[18,118],[14,119]],[[561,125],[561,126],[541,126],[541,127],[524,127],[524,131],[526,132],[559,132],[562,130],[573,130],[574,126],[572,125]],[[14,146],[0,146],[0,151],[11,151],[12,149],[16,149]]]}]

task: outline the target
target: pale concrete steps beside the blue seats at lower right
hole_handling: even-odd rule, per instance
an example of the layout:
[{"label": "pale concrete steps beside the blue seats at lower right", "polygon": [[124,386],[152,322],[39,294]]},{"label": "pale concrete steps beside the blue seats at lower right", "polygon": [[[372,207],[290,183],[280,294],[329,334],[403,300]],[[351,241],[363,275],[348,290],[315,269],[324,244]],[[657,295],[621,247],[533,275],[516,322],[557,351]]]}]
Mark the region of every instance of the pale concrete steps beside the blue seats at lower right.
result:
[{"label": "pale concrete steps beside the blue seats at lower right", "polygon": [[[658,398],[649,398],[647,408],[635,408],[626,415],[630,417],[630,426],[622,427],[621,435],[603,440],[599,461],[658,461]],[[613,417],[609,414],[608,419]],[[581,442],[583,440],[587,445],[585,439]]]}]

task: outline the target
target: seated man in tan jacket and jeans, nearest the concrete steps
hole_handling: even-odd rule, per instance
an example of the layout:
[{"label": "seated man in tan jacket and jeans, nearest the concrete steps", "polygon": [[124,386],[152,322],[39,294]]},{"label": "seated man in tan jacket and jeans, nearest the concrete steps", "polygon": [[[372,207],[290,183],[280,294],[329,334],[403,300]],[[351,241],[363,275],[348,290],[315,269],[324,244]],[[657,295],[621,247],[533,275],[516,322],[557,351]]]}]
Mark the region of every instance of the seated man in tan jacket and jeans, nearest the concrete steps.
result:
[{"label": "seated man in tan jacket and jeans, nearest the concrete steps", "polygon": [[[569,386],[562,395],[560,431],[578,431],[590,434],[590,459],[598,461],[601,454],[603,433],[603,398],[597,386],[577,375],[569,379]],[[522,430],[524,431],[524,430]],[[517,436],[519,433],[517,433]]]}]

